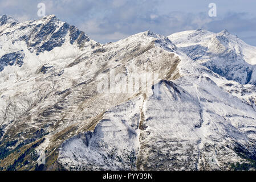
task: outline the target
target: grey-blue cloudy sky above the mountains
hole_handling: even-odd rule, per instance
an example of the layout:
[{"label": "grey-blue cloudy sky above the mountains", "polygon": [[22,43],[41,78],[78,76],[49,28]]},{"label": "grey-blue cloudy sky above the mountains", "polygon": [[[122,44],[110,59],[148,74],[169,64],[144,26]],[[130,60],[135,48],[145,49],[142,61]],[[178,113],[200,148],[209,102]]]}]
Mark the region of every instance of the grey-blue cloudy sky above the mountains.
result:
[{"label": "grey-blue cloudy sky above the mountains", "polygon": [[[147,30],[168,36],[202,28],[226,29],[256,46],[255,0],[0,0],[0,15],[19,22],[40,19],[38,3],[44,3],[46,15],[55,14],[100,43]],[[208,14],[210,3],[216,4],[216,16]]]}]

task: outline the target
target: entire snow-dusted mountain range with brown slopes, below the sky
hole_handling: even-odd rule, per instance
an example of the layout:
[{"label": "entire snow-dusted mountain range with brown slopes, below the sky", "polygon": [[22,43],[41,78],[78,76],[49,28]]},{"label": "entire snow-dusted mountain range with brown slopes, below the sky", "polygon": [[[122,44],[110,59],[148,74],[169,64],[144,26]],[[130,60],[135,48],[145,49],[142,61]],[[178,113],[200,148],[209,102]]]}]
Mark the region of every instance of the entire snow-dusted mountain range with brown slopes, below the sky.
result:
[{"label": "entire snow-dusted mountain range with brown slopes, below the sky", "polygon": [[[199,30],[100,44],[54,15],[0,20],[0,169],[255,168],[256,87],[236,67],[253,71],[254,47]],[[226,74],[209,67],[224,57]]]}]

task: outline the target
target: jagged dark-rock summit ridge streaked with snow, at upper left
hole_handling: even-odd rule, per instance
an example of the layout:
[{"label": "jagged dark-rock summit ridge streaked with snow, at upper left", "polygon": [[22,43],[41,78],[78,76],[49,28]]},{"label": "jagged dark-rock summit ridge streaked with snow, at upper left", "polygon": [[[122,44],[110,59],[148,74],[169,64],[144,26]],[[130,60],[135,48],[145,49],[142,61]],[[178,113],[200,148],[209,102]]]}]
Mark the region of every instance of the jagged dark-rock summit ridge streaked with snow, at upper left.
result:
[{"label": "jagged dark-rock summit ridge streaked with snow, at upper left", "polygon": [[[50,52],[69,42],[80,49],[90,48],[94,40],[75,26],[60,21],[55,15],[48,15],[42,19],[17,23],[10,16],[1,16],[1,34],[9,35],[11,44],[25,42],[31,53],[39,55],[44,51]],[[8,24],[8,26],[5,26]],[[11,25],[10,25],[11,24]],[[15,26],[13,26],[15,24]],[[9,44],[9,43],[6,43]],[[19,47],[19,46],[18,46]],[[17,47],[17,51],[21,51]]]}]

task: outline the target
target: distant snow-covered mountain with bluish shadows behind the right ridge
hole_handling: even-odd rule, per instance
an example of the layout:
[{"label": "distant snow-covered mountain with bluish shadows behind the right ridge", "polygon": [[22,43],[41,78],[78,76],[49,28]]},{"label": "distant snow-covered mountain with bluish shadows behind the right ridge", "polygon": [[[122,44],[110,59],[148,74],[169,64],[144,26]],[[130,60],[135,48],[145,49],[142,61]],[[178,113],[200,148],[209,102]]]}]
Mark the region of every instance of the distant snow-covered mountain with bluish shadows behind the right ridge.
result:
[{"label": "distant snow-covered mountain with bluish shadows behind the right ridge", "polygon": [[227,80],[256,84],[256,47],[249,46],[227,30],[184,31],[168,37],[192,60]]}]

